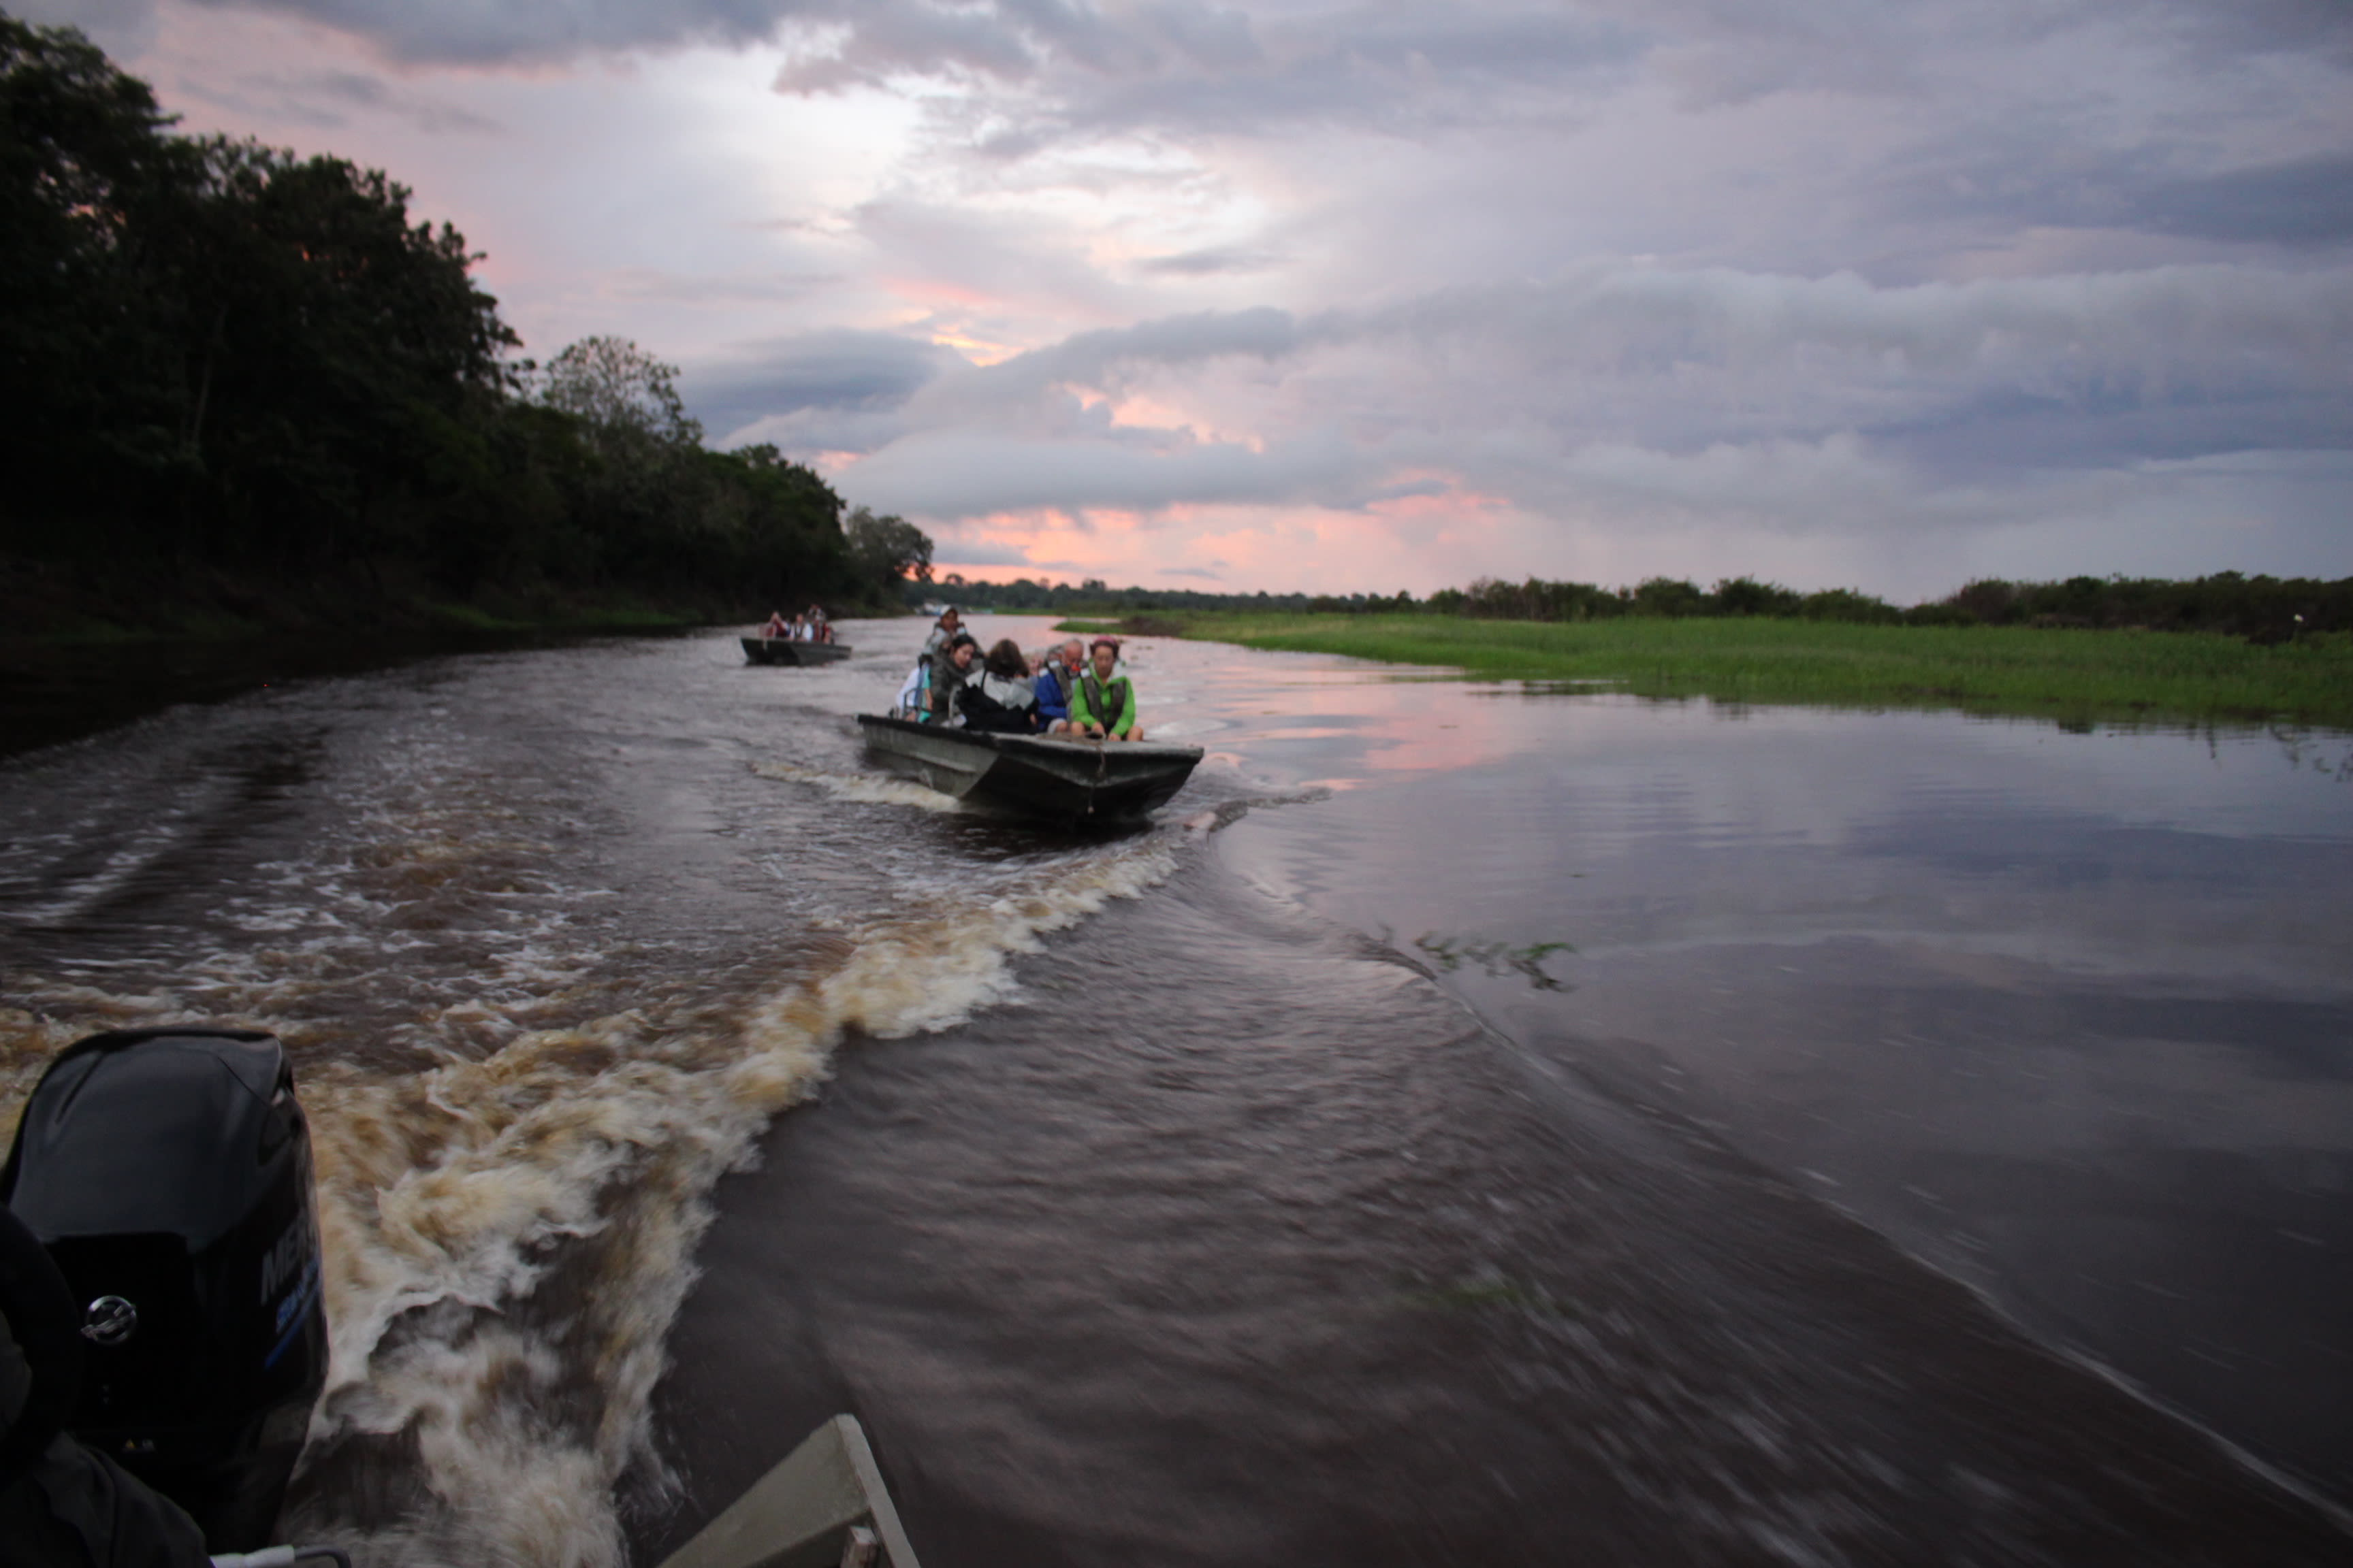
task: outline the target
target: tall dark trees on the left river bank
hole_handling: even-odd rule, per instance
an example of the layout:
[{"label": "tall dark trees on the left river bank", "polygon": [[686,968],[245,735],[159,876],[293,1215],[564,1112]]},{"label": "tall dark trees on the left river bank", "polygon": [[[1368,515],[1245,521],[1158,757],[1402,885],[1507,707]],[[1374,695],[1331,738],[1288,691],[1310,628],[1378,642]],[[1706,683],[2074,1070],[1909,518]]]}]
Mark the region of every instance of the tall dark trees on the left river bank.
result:
[{"label": "tall dark trees on the left river bank", "polygon": [[381,169],[174,134],[78,31],[0,14],[0,555],[729,614],[929,571],[774,447],[706,449],[633,343],[515,357],[475,261]]}]

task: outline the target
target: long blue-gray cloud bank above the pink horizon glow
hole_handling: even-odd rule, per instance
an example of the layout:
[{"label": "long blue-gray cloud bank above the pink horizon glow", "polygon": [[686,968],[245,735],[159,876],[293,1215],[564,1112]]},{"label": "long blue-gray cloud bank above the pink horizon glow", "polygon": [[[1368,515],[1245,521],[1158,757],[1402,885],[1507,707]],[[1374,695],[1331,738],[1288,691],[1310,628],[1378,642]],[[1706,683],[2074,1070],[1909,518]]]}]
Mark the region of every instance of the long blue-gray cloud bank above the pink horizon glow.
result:
[{"label": "long blue-gray cloud bank above the pink horizon glow", "polygon": [[[1647,498],[1826,524],[1897,517],[1927,480],[2000,489],[2019,473],[2341,447],[2348,355],[2346,273],[2202,266],[1904,289],[1595,273],[1379,310],[1075,334],[908,386],[894,430],[845,482],[955,520],[1360,508],[1400,473],[1442,468],[1534,505]],[[1315,423],[1252,449],[1118,425],[1073,395],[1167,402],[1233,362],[1318,386],[1325,397],[1301,400]]]}]

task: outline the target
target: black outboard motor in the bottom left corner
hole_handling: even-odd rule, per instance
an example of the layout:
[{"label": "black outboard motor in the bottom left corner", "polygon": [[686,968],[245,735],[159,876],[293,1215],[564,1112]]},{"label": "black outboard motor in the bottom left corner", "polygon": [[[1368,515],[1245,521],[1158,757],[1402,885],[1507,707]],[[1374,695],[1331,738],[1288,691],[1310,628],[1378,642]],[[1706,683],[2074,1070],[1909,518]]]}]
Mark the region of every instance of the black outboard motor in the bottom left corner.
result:
[{"label": "black outboard motor in the bottom left corner", "polygon": [[42,1072],[0,1201],[73,1288],[71,1432],[179,1502],[209,1552],[268,1544],[327,1380],[311,1128],[259,1030],[118,1030]]}]

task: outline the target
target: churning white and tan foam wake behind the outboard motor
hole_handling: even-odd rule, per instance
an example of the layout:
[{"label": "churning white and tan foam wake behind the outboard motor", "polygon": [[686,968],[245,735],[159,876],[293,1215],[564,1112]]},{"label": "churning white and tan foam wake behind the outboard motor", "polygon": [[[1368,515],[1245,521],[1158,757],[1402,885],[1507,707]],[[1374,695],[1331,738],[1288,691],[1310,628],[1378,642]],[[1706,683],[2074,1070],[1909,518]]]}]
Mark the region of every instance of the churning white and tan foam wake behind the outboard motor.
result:
[{"label": "churning white and tan foam wake behind the outboard motor", "polygon": [[[541,929],[419,1025],[428,1044],[489,1034],[501,1044],[487,1056],[440,1048],[424,1072],[306,1060],[334,1347],[311,1455],[402,1434],[414,1460],[386,1462],[414,1465],[416,1505],[360,1533],[322,1486],[289,1523],[369,1563],[619,1566],[614,1488],[626,1474],[666,1483],[652,1392],[718,1178],[812,1093],[845,1030],[960,1023],[1012,992],[1014,954],[1165,879],[1174,853],[1155,835],[849,926],[826,945],[831,969],[734,1009],[647,997],[518,1030],[546,1004],[527,980],[595,964]],[[381,950],[362,959],[369,938],[344,940],[365,983]],[[235,1016],[299,1048],[332,957],[224,954],[176,999],[14,976],[28,1006],[0,1011],[5,1110],[49,1053],[99,1027]],[[191,994],[219,1011],[186,1011]]]}]

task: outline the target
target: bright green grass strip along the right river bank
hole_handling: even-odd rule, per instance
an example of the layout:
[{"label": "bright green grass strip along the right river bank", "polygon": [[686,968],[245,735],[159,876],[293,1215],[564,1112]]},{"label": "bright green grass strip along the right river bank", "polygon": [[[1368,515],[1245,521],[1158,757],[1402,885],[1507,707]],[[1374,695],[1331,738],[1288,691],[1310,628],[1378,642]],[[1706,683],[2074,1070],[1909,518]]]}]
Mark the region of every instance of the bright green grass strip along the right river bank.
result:
[{"label": "bright green grass strip along the right river bank", "polygon": [[2353,637],[2344,635],[2266,649],[2198,632],[1252,614],[1141,616],[1127,630],[1657,698],[2353,729]]}]

